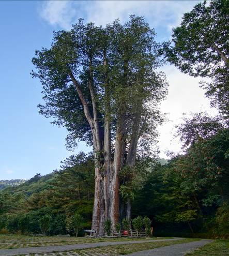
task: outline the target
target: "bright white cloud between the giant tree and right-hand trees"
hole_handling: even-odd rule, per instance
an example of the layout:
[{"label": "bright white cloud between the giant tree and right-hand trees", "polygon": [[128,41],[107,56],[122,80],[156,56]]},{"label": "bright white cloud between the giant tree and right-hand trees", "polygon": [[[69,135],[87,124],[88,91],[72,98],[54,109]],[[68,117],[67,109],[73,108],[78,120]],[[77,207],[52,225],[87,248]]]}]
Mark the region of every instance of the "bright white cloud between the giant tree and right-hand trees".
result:
[{"label": "bright white cloud between the giant tree and right-hand trees", "polygon": [[161,110],[167,113],[169,121],[159,127],[160,156],[166,158],[167,150],[180,152],[181,144],[178,138],[173,138],[173,135],[174,126],[181,123],[182,113],[203,111],[216,115],[218,111],[210,108],[209,100],[205,98],[204,90],[200,88],[201,79],[183,74],[171,65],[163,67],[162,70],[170,83],[167,99],[161,104]]}]

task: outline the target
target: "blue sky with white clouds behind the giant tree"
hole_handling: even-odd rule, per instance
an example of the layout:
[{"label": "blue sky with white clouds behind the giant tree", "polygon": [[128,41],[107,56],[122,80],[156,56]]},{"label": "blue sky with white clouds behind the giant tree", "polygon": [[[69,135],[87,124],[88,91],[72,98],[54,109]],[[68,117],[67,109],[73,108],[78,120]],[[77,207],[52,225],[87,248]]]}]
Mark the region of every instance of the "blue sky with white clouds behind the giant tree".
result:
[{"label": "blue sky with white clouds behind the giant tree", "polygon": [[[104,25],[129,14],[145,16],[167,40],[171,28],[178,25],[182,13],[199,1],[0,1],[0,180],[30,178],[37,172],[47,174],[59,168],[60,161],[71,155],[65,148],[65,128],[50,124],[38,114],[42,103],[41,85],[30,76],[35,49],[50,47],[52,32],[69,29],[79,18]],[[199,79],[181,74],[173,66],[163,68],[170,91],[162,103],[169,121],[159,127],[159,148],[178,152],[180,144],[172,140],[173,126],[182,112],[200,110],[213,113]],[[89,151],[83,143],[75,150]]]}]

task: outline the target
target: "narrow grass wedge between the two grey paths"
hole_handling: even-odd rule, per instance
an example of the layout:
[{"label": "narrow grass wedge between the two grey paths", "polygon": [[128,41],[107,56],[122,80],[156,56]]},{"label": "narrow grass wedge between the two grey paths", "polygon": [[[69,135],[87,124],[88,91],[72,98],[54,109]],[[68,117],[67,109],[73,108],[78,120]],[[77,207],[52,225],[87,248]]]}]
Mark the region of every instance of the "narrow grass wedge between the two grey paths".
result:
[{"label": "narrow grass wedge between the two grey paths", "polygon": [[[165,241],[165,242],[154,242],[154,243],[142,243],[142,244],[129,244],[129,245],[113,245],[105,247],[96,247],[90,249],[72,250],[67,252],[52,252],[52,253],[38,253],[39,256],[117,256],[125,255],[128,253],[155,249],[158,247],[163,247],[167,245],[183,244],[196,241],[200,239],[196,238],[186,238],[182,240]],[[29,254],[29,256],[34,256],[35,254]]]}]

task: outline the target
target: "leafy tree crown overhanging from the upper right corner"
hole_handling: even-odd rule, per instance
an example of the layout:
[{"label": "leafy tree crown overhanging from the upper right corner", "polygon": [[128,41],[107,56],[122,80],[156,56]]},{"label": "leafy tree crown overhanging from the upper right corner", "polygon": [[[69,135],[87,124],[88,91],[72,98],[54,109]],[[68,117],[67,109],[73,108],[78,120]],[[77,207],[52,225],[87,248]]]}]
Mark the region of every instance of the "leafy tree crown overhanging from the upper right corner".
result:
[{"label": "leafy tree crown overhanging from the upper right corner", "polygon": [[172,40],[164,44],[166,57],[182,72],[209,78],[206,96],[229,118],[229,1],[204,1],[185,13]]}]

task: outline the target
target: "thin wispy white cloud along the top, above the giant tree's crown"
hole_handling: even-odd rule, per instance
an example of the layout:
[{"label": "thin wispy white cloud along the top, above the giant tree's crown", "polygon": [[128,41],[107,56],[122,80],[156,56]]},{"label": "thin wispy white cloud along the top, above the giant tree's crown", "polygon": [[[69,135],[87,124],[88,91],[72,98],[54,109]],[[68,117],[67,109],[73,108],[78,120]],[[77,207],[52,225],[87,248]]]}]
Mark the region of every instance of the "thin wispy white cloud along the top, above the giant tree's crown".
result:
[{"label": "thin wispy white cloud along the top, above the giant tree's crown", "polygon": [[130,14],[146,17],[153,27],[165,26],[167,32],[178,25],[182,14],[200,1],[47,1],[40,15],[52,25],[69,29],[79,18],[105,25]]}]

